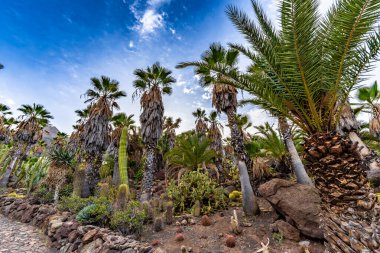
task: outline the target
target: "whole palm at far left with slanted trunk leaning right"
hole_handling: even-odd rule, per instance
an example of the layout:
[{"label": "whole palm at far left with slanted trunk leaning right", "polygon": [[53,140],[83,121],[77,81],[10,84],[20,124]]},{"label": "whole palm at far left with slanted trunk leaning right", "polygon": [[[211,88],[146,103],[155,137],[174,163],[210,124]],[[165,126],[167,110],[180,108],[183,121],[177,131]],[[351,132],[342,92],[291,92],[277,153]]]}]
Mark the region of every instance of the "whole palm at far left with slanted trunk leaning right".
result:
[{"label": "whole palm at far left with slanted trunk leaning right", "polygon": [[50,119],[53,119],[50,112],[40,104],[22,105],[18,110],[22,112],[22,114],[19,117],[21,121],[14,134],[15,145],[11,152],[12,161],[0,179],[0,187],[7,186],[9,177],[17,161],[21,160],[22,162],[24,154],[27,154],[31,146],[41,138],[43,127],[49,123]]}]

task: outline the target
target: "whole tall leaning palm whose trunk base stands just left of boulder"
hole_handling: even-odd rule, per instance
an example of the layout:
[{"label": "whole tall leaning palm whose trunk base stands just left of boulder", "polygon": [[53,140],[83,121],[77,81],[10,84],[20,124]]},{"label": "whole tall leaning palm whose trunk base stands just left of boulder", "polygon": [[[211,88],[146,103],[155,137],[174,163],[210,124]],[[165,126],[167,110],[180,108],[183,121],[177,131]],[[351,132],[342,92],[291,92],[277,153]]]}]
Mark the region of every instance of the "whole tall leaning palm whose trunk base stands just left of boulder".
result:
[{"label": "whole tall leaning palm whose trunk base stands just left of boulder", "polygon": [[202,54],[201,61],[182,62],[177,65],[177,68],[195,67],[195,73],[201,77],[201,86],[212,86],[212,105],[217,112],[224,112],[227,115],[235,155],[238,161],[243,161],[243,163],[238,162],[241,165],[240,178],[245,198],[243,209],[246,214],[252,215],[258,212],[258,206],[254,200],[249,178],[244,178],[244,176],[249,176],[246,170],[247,165],[251,165],[251,160],[245,150],[243,135],[236,122],[237,90],[234,86],[224,83],[228,79],[225,75],[213,70],[220,67],[226,72],[237,71],[237,59],[237,50],[225,49],[222,45],[214,43]]}]

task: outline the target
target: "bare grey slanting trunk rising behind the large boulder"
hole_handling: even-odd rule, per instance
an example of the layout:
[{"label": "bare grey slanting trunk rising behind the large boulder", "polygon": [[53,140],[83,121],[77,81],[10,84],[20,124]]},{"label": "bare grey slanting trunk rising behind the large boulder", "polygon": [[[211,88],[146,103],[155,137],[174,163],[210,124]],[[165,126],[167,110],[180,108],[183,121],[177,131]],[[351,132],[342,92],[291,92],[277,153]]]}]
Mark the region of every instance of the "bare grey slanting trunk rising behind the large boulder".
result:
[{"label": "bare grey slanting trunk rising behind the large boulder", "polygon": [[314,186],[313,182],[311,181],[310,177],[308,176],[305,170],[305,167],[303,166],[301,158],[298,155],[288,122],[283,117],[280,117],[278,121],[280,125],[281,134],[284,138],[286,149],[288,150],[290,156],[290,162],[292,163],[292,168],[297,178],[297,183]]}]

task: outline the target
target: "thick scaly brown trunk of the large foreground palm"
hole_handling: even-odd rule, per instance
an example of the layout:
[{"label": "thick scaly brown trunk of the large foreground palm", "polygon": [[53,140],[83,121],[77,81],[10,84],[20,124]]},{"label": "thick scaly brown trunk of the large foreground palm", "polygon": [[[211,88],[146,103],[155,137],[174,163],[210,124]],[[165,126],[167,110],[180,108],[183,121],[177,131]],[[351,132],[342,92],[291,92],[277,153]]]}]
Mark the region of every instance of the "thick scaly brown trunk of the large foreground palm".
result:
[{"label": "thick scaly brown trunk of the large foreground palm", "polygon": [[357,144],[334,133],[315,134],[305,142],[305,159],[321,192],[328,252],[380,252],[380,207]]}]

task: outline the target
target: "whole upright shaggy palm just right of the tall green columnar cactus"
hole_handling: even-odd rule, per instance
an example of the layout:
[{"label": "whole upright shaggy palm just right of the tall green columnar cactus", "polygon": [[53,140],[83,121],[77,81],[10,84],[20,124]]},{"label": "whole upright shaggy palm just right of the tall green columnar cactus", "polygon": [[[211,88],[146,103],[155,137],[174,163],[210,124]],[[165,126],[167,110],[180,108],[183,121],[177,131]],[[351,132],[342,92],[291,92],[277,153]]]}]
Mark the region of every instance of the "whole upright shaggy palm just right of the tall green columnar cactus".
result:
[{"label": "whole upright shaggy palm just right of the tall green columnar cactus", "polygon": [[153,173],[156,165],[156,147],[162,135],[164,105],[162,94],[172,93],[171,85],[176,81],[172,77],[172,72],[155,63],[151,67],[136,69],[134,75],[136,80],[133,83],[136,91],[135,96],[141,96],[140,105],[142,113],[140,115],[141,135],[146,145],[146,169],[142,183],[141,200],[148,200],[151,197],[150,190],[153,184]]}]

